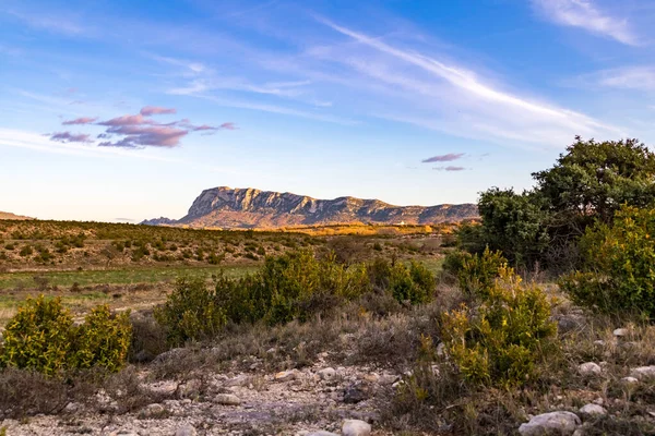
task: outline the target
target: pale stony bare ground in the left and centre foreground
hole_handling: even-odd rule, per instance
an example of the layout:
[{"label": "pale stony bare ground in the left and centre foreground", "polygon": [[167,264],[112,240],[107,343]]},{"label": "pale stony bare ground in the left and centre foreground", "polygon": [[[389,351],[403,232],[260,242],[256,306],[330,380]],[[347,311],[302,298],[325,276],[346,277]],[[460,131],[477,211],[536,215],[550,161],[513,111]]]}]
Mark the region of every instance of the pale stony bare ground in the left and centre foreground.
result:
[{"label": "pale stony bare ground in the left and centre foreground", "polygon": [[[175,353],[169,355],[175,359]],[[163,400],[132,413],[114,413],[120,404],[100,392],[94,398],[96,404],[71,402],[58,415],[5,420],[0,427],[12,436],[389,434],[370,433],[379,421],[376,393],[397,383],[400,376],[321,363],[276,374],[205,374],[182,383],[144,382]],[[140,376],[145,379],[147,374]],[[97,413],[98,407],[105,413]]]}]

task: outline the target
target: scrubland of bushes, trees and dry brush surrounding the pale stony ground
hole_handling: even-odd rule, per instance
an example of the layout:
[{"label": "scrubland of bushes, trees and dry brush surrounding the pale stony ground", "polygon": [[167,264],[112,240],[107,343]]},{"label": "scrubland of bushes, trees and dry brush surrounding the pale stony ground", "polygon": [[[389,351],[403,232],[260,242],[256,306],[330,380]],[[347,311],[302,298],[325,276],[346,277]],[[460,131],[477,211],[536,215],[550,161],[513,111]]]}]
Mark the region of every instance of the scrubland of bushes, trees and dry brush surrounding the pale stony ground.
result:
[{"label": "scrubland of bushes, trees and dry brush surrounding the pale stony ground", "polygon": [[[272,372],[332,365],[395,375],[357,385],[366,398],[353,401],[376,410],[380,434],[655,434],[655,155],[632,140],[577,138],[533,175],[532,191],[481,193],[480,222],[439,238],[3,223],[4,251],[32,246],[24,257],[37,264],[35,240],[69,251],[110,240],[114,259],[139,265],[162,262],[153,252],[194,267],[206,254],[253,263],[180,277],[154,307],[98,306],[79,324],[59,300],[26,301],[3,331],[0,416],[84,401],[99,412],[88,400],[98,391],[120,403],[111,413],[132,413],[164,401],[147,383],[177,380],[170,399],[200,380],[202,402],[212,374],[248,374],[265,390],[255,382]],[[69,265],[66,253],[48,262]],[[34,390],[43,396],[22,393]],[[556,411],[573,412],[573,426],[522,426]]]}]

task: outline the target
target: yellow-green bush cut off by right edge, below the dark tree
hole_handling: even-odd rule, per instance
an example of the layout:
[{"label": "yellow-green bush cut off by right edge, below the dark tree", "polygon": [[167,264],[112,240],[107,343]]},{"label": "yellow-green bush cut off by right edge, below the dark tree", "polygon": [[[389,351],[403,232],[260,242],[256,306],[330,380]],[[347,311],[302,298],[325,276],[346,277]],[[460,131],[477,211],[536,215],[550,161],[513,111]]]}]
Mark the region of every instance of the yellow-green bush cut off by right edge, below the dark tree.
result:
[{"label": "yellow-green bush cut off by right edge, below the dark tree", "polygon": [[655,317],[655,209],[624,206],[614,225],[598,222],[580,242],[584,266],[560,287],[600,312],[640,311]]}]

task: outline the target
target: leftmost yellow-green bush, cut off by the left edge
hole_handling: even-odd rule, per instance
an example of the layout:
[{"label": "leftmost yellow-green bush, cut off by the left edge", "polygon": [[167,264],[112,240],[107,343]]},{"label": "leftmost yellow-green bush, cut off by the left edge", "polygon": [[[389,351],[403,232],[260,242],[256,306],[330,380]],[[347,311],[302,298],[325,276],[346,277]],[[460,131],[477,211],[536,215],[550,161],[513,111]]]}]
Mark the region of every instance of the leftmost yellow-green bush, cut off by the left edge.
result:
[{"label": "leftmost yellow-green bush, cut off by the left edge", "polygon": [[0,362],[55,374],[67,366],[73,328],[73,318],[60,299],[27,299],[5,326]]}]

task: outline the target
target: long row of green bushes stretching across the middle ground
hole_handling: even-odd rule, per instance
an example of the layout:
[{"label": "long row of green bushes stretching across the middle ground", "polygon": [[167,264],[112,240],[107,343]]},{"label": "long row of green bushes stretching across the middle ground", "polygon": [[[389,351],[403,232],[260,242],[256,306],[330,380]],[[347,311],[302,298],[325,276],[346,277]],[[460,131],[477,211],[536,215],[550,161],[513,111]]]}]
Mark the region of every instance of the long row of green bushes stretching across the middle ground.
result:
[{"label": "long row of green bushes stretching across the middle ground", "polygon": [[155,317],[167,328],[169,340],[179,343],[211,337],[226,322],[305,322],[373,290],[398,302],[424,303],[434,284],[432,274],[417,263],[407,267],[379,259],[347,266],[334,254],[317,258],[311,251],[295,251],[266,257],[253,275],[238,279],[219,275],[212,290],[202,280],[183,280]]}]

